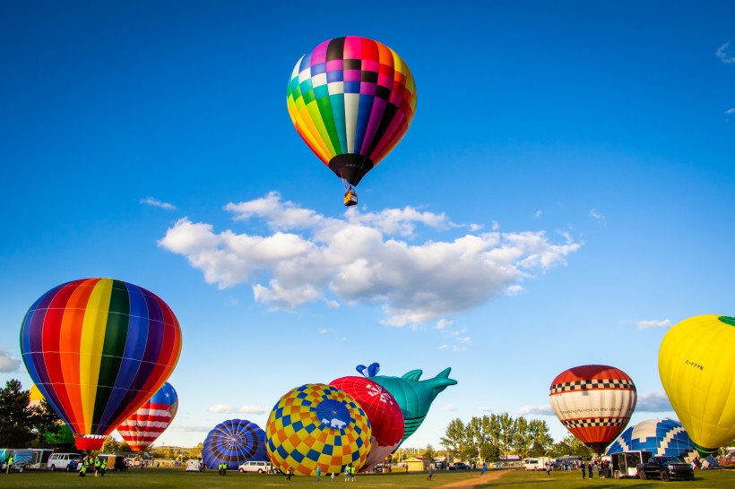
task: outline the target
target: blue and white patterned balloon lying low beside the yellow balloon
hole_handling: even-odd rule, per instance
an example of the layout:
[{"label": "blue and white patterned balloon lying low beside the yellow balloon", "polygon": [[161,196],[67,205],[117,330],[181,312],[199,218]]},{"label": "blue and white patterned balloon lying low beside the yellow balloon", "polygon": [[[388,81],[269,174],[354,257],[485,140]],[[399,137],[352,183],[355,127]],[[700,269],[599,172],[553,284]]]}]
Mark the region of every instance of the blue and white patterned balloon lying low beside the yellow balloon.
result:
[{"label": "blue and white patterned balloon lying low beside the yellow balloon", "polygon": [[687,430],[673,419],[646,419],[635,426],[628,426],[605,453],[645,450],[656,455],[686,458],[694,450],[694,443]]}]

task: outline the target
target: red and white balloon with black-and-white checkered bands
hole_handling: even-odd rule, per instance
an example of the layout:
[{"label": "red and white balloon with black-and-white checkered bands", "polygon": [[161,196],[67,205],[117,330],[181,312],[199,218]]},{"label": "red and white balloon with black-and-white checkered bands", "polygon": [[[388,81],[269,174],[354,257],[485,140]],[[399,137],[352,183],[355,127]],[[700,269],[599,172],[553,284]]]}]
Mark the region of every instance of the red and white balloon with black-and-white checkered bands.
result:
[{"label": "red and white balloon with black-and-white checkered bands", "polygon": [[636,385],[607,365],[582,365],[557,375],[549,401],[562,425],[595,453],[605,452],[636,408]]}]

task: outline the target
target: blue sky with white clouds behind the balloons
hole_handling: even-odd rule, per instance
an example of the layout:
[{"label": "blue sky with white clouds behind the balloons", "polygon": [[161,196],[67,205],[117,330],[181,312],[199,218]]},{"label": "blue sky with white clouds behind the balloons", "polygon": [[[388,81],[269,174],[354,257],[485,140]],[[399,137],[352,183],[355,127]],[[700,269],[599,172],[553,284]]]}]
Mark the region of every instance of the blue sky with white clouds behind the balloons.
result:
[{"label": "blue sky with white clouds behind the balloons", "polygon": [[[674,416],[666,330],[732,315],[731,2],[38,2],[0,5],[0,381],[22,317],[112,277],[177,314],[177,418],[264,426],[286,391],[378,362],[452,367],[405,445],[454,417],[550,413],[566,368]],[[342,184],[286,110],[298,58],[377,39],[411,67],[403,141]]]}]

